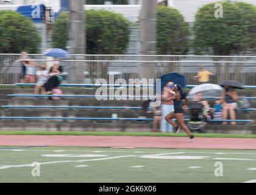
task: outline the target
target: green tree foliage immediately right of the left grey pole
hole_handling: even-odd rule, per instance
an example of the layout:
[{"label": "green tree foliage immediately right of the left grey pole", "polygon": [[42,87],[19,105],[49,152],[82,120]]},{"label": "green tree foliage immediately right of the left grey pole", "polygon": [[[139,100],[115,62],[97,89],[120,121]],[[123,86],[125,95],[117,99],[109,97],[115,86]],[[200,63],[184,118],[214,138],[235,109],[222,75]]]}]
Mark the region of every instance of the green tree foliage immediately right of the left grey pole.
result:
[{"label": "green tree foliage immediately right of the left grey pole", "polygon": [[123,54],[129,42],[130,22],[119,13],[87,11],[87,53]]}]

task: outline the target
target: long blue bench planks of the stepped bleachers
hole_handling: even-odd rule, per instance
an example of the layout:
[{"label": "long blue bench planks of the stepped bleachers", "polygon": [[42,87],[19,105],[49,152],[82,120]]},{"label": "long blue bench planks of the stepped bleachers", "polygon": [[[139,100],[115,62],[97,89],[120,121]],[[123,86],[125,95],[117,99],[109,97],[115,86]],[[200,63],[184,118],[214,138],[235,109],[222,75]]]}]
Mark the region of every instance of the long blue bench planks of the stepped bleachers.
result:
[{"label": "long blue bench planks of the stepped bleachers", "polygon": [[[25,84],[25,83],[16,83],[15,86],[17,87],[34,87],[35,84]],[[62,84],[60,85],[60,87],[88,87],[88,88],[94,88],[94,87],[138,87],[140,85],[93,85],[93,84]],[[143,87],[143,85],[141,86]],[[147,85],[147,87],[154,87],[154,85]],[[194,85],[187,85],[188,88],[194,87]],[[256,88],[254,86],[245,86],[245,88]],[[63,96],[57,96],[57,95],[34,95],[34,94],[9,94],[8,95],[9,98],[23,98],[22,100],[24,100],[24,98],[48,98],[48,97],[58,97],[58,98],[62,98],[62,99],[80,99],[83,100],[84,99],[95,99],[95,98],[150,98],[149,96],[95,96],[95,95],[63,95]],[[209,99],[213,99],[213,98],[209,98]],[[248,97],[246,99],[249,99],[251,101],[256,100],[256,98],[254,97]],[[129,101],[129,100],[127,100]],[[22,102],[22,101],[21,101]],[[58,101],[55,101],[58,102]],[[88,103],[90,104],[90,103]],[[138,104],[138,103],[137,103]],[[137,105],[135,104],[135,105]],[[92,115],[92,117],[90,117],[90,113],[87,113],[87,115],[85,117],[81,117],[83,116],[83,113],[80,113],[80,115],[76,115],[74,117],[59,117],[59,116],[23,116],[22,113],[20,113],[21,116],[13,116],[13,115],[9,115],[9,116],[1,116],[0,117],[0,121],[2,120],[9,120],[9,121],[66,121],[66,122],[71,122],[71,121],[92,121],[97,122],[97,121],[112,121],[112,122],[146,122],[146,123],[150,123],[152,121],[154,121],[152,115],[150,116],[143,116],[143,117],[137,117],[137,118],[133,118],[133,117],[116,117],[116,118],[110,118],[108,117],[109,115],[102,115],[102,117],[97,117],[97,113],[100,112],[100,110],[110,110],[110,112],[114,112],[114,110],[123,110],[122,112],[127,113],[127,110],[133,110],[133,112],[141,112],[142,108],[141,107],[136,107],[136,106],[115,106],[115,102],[113,102],[113,105],[109,105],[109,106],[79,106],[79,105],[2,105],[2,108],[4,108],[5,110],[9,110],[9,109],[27,109],[28,112],[36,112],[35,110],[38,109],[52,109],[52,110],[60,110],[60,109],[64,109],[64,110],[90,110],[90,113],[93,113],[94,115]],[[238,111],[240,112],[254,112],[255,108],[246,108],[246,109],[238,109]],[[115,111],[116,112],[116,111]],[[26,112],[24,112],[26,113]],[[27,114],[27,113],[26,113]],[[88,117],[89,116],[89,117]],[[96,116],[96,117],[94,117]],[[107,117],[104,117],[107,116]],[[130,115],[133,116],[133,115]],[[140,116],[140,115],[137,115]],[[219,122],[233,122],[232,120],[208,120],[209,122],[212,123],[219,123]],[[245,124],[251,124],[254,122],[254,120],[252,119],[238,119],[235,120],[235,122],[242,122]],[[72,122],[71,122],[72,123]],[[95,123],[94,123],[95,124]],[[97,123],[98,124],[98,123]],[[127,126],[127,124],[126,124]],[[149,126],[148,126],[149,127]],[[135,127],[137,128],[137,127]],[[148,129],[151,130],[151,129]]]}]

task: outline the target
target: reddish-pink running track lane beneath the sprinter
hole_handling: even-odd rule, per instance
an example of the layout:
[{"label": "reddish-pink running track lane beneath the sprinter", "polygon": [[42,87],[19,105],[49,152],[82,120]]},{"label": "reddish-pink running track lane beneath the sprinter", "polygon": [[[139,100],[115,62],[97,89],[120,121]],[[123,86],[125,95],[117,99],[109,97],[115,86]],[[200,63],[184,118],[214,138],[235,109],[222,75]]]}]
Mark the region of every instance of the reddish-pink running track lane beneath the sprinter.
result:
[{"label": "reddish-pink running track lane beneath the sprinter", "polygon": [[154,147],[186,149],[256,149],[256,139],[177,137],[101,137],[0,135],[0,146],[84,146],[84,147]]}]

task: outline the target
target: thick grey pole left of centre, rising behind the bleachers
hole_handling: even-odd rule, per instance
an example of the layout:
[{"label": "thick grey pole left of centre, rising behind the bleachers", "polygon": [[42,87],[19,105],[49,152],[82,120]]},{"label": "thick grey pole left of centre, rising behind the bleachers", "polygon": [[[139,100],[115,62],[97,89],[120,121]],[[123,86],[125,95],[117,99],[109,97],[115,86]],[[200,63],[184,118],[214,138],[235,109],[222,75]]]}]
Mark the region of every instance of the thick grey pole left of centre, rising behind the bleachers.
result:
[{"label": "thick grey pole left of centre, rising behind the bleachers", "polygon": [[[71,54],[85,54],[86,32],[85,32],[85,11],[86,0],[69,0],[69,41],[68,50]],[[84,60],[84,56],[76,56],[74,60]],[[71,63],[71,77],[69,82],[84,82],[84,62]]]}]

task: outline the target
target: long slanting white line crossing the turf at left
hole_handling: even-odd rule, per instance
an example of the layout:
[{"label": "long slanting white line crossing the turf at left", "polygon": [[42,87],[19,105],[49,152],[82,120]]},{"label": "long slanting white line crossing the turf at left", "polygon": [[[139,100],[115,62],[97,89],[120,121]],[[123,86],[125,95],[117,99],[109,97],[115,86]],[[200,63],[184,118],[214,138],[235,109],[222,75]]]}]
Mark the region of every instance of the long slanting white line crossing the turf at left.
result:
[{"label": "long slanting white line crossing the turf at left", "polygon": [[[58,163],[83,163],[87,161],[99,161],[99,160],[112,160],[118,158],[129,158],[129,157],[137,157],[137,155],[127,155],[127,156],[120,156],[120,157],[108,157],[108,158],[96,158],[96,159],[87,159],[87,160],[64,160],[64,161],[50,161],[39,163],[39,165],[51,165],[51,164],[58,164]],[[21,168],[21,167],[31,167],[32,164],[26,165],[5,165],[0,167],[0,169],[9,169],[9,168]]]}]

